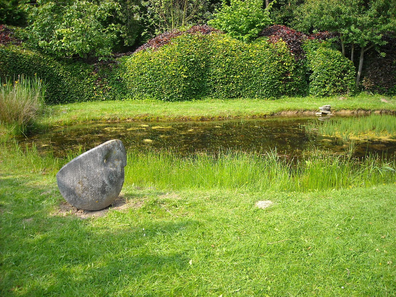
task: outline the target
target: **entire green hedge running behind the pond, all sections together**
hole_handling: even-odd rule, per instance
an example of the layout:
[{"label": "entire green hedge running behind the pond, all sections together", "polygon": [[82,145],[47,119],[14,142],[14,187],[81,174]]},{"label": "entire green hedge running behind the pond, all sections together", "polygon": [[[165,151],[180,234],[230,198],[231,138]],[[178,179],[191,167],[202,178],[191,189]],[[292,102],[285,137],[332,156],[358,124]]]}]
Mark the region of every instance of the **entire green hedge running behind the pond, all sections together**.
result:
[{"label": "entire green hedge running behind the pond, all sections together", "polygon": [[282,95],[352,92],[352,62],[316,42],[296,62],[282,41],[246,44],[224,34],[183,34],[156,51],[147,49],[95,67],[59,61],[18,46],[0,46],[0,79],[35,74],[47,84],[47,103],[154,98],[274,99]]}]

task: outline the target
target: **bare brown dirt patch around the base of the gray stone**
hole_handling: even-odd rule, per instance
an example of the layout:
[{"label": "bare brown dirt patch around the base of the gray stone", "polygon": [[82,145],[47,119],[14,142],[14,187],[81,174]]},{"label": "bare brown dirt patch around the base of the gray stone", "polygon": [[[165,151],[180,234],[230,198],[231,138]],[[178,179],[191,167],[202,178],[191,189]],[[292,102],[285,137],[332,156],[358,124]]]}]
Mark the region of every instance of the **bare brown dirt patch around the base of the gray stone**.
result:
[{"label": "bare brown dirt patch around the base of the gray stone", "polygon": [[114,200],[114,202],[110,204],[110,206],[108,206],[107,208],[90,211],[84,209],[77,209],[63,200],[61,203],[59,203],[59,209],[55,211],[53,215],[61,215],[61,216],[74,215],[76,217],[79,217],[80,219],[87,219],[90,217],[102,217],[108,211],[111,210],[125,211],[130,208],[137,209],[140,208],[143,205],[143,203],[144,203],[143,200],[133,200],[133,199],[127,200],[122,196],[118,196],[118,198]]}]

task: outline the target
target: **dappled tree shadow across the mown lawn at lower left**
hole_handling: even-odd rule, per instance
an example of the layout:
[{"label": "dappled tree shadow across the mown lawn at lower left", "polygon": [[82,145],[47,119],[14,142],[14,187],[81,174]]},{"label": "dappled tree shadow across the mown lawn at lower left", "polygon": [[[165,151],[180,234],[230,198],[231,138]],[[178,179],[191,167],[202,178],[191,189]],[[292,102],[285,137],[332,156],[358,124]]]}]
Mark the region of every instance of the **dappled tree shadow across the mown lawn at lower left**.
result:
[{"label": "dappled tree shadow across the mown lawn at lower left", "polygon": [[0,295],[105,296],[129,284],[147,291],[159,279],[188,268],[183,253],[160,246],[196,222],[144,221],[143,229],[135,221],[123,224],[128,213],[120,215],[120,224],[117,216],[82,221],[49,215],[11,224],[2,232],[8,239],[2,244]]}]

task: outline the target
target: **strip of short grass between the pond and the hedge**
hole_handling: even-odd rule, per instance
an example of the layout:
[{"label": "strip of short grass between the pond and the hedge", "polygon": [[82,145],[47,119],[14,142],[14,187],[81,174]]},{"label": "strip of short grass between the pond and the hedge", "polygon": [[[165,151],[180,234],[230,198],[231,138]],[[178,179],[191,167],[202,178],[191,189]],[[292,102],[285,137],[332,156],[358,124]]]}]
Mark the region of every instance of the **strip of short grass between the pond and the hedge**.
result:
[{"label": "strip of short grass between the pond and the hedge", "polygon": [[[386,102],[385,102],[386,101]],[[396,98],[361,94],[355,97],[293,97],[277,100],[207,98],[199,101],[101,101],[48,107],[45,126],[90,121],[210,120],[260,118],[278,113],[315,112],[330,104],[333,111],[396,111]]]}]

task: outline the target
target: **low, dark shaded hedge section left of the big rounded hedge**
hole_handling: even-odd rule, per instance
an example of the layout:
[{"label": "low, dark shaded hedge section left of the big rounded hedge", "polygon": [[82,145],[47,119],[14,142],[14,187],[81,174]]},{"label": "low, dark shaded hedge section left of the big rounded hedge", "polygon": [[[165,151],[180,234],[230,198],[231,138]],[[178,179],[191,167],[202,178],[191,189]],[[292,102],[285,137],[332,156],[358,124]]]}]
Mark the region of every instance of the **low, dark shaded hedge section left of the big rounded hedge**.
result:
[{"label": "low, dark shaded hedge section left of the big rounded hedge", "polygon": [[116,65],[95,69],[93,65],[58,61],[17,46],[0,46],[0,61],[1,80],[18,75],[42,78],[48,84],[46,103],[117,99],[123,94]]}]

